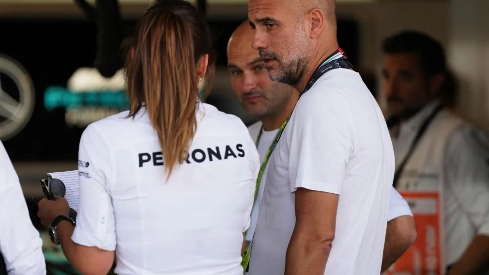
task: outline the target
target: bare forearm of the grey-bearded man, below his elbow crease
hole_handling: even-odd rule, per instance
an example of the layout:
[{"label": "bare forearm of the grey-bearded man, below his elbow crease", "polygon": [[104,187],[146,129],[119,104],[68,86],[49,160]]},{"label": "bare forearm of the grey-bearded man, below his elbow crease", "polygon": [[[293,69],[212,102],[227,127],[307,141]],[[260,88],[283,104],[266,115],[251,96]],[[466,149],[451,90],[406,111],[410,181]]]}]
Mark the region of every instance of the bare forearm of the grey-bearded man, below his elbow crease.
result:
[{"label": "bare forearm of the grey-bearded man, below his elbow crease", "polygon": [[323,275],[331,240],[313,240],[308,234],[292,233],[287,249],[285,275]]}]

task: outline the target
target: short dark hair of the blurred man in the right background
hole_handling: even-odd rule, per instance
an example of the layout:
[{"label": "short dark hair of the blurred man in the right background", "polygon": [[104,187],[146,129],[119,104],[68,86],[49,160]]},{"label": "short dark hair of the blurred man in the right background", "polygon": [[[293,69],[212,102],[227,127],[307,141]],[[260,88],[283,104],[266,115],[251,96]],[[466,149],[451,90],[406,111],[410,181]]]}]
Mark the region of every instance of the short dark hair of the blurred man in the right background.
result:
[{"label": "short dark hair of the blurred man in the right background", "polygon": [[402,31],[384,40],[384,53],[417,53],[426,79],[446,72],[446,57],[440,42],[418,31]]}]

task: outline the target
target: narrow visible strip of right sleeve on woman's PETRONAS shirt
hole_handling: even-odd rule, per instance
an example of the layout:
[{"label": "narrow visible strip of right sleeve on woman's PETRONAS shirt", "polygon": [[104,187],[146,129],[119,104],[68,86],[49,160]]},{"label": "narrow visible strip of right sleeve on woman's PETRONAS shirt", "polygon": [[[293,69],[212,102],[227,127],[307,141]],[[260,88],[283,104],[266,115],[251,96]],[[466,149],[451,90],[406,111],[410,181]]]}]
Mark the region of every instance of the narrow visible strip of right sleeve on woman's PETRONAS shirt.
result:
[{"label": "narrow visible strip of right sleeve on woman's PETRONAS shirt", "polygon": [[247,140],[249,140],[247,144],[247,153],[248,153],[248,158],[250,162],[250,190],[249,190],[249,205],[248,208],[246,209],[246,213],[244,214],[244,229],[243,232],[248,230],[250,224],[251,224],[251,211],[253,210],[253,203],[255,201],[255,189],[256,189],[256,181],[258,178],[258,173],[260,172],[260,156],[258,155],[258,151],[256,149],[256,145],[251,139],[251,137],[248,137]]}]

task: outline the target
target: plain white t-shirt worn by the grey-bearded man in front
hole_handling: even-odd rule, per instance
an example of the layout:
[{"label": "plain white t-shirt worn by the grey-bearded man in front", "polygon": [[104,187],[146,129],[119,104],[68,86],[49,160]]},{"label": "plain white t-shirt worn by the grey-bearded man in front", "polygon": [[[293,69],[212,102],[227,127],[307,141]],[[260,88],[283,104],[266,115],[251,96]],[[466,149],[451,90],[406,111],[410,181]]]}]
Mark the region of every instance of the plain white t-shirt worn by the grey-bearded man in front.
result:
[{"label": "plain white t-shirt worn by the grey-bearded man in front", "polygon": [[374,97],[355,71],[326,73],[299,99],[270,160],[249,274],[284,274],[299,187],[340,195],[324,274],[380,274],[393,177]]}]

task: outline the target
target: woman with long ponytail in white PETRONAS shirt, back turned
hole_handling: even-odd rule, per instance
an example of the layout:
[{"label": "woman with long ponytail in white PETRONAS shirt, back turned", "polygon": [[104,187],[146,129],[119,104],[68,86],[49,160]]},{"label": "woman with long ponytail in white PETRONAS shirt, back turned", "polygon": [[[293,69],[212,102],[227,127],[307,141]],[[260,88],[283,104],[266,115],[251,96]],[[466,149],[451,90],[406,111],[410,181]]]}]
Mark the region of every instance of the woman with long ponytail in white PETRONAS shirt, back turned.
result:
[{"label": "woman with long ponytail in white PETRONAS shirt, back turned", "polygon": [[76,227],[57,218],[66,200],[39,204],[82,274],[107,274],[114,257],[119,275],[243,274],[259,157],[238,117],[200,100],[214,78],[210,37],[187,1],[151,7],[127,54],[130,110],[82,135]]}]

